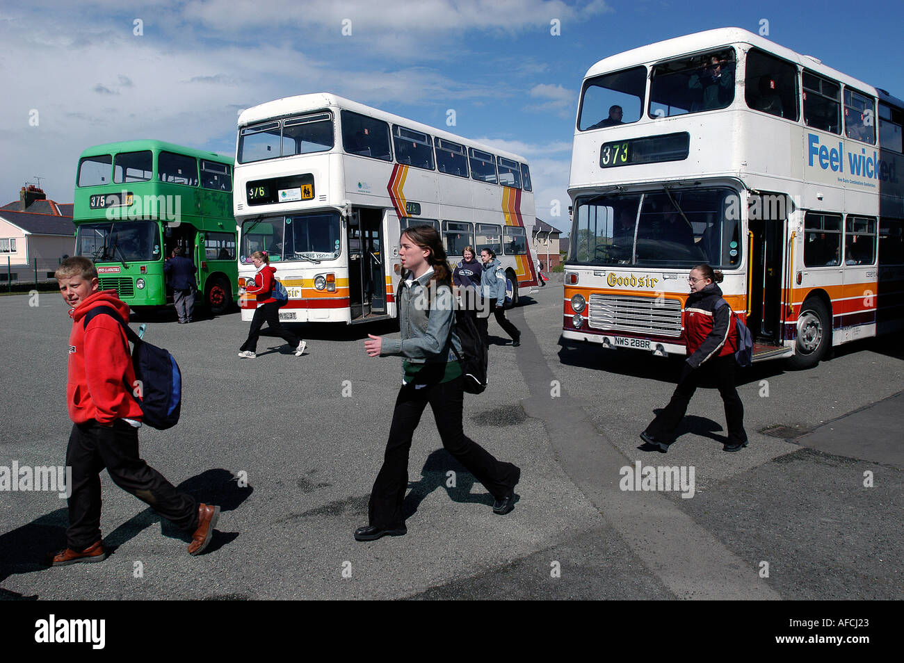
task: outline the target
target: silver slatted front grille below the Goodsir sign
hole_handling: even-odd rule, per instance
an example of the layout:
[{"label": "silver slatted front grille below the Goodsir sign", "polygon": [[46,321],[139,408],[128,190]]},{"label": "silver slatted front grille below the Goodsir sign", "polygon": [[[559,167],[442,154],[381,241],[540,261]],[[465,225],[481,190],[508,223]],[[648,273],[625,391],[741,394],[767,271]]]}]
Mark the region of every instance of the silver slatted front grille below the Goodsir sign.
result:
[{"label": "silver slatted front grille below the Goodsir sign", "polygon": [[588,315],[593,329],[681,336],[680,299],[591,294]]}]

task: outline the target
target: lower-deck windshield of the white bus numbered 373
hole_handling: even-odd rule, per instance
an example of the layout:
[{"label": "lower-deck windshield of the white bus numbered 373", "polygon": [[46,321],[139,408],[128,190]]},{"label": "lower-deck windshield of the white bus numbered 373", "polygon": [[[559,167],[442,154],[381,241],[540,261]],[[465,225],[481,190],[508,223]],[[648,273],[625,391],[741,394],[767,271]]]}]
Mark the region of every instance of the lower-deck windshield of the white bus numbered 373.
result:
[{"label": "lower-deck windshield of the white bus numbered 373", "polygon": [[[576,204],[569,262],[690,269],[740,264],[738,194],[693,189],[603,195]],[[638,215],[638,210],[640,214]]]}]

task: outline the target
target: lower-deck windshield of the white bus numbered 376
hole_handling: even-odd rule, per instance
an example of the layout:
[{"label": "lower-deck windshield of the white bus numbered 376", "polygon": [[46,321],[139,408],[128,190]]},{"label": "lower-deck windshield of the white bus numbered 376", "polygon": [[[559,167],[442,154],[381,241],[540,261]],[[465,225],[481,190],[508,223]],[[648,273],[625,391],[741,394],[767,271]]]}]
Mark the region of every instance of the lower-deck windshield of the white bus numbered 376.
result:
[{"label": "lower-deck windshield of the white bus numbered 376", "polygon": [[248,219],[241,224],[240,260],[250,265],[255,251],[267,251],[270,262],[334,260],[341,252],[341,233],[334,211]]}]

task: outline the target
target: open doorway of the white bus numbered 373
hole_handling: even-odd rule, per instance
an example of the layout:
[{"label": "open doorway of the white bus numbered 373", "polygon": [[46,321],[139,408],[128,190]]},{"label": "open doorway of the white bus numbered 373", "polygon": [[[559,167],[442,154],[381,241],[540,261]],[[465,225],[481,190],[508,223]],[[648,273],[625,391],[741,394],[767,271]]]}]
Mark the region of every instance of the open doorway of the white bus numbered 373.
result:
[{"label": "open doorway of the white bus numbered 373", "polygon": [[[757,198],[757,201],[754,201]],[[785,262],[787,201],[784,194],[759,192],[750,196],[748,227],[749,316],[747,326],[761,345],[780,345],[782,265]]]}]

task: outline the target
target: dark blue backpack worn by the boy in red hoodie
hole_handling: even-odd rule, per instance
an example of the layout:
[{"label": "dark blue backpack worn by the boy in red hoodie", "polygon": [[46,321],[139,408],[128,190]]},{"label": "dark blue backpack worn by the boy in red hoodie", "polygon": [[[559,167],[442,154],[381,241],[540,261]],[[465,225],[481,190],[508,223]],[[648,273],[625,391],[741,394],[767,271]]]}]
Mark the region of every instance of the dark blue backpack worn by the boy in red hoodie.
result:
[{"label": "dark blue backpack worn by the boy in red hoodie", "polygon": [[[132,385],[126,385],[126,388],[141,406],[142,422],[161,431],[172,428],[178,423],[182,410],[182,372],[173,355],[163,348],[142,341],[123,322],[118,311],[110,306],[98,306],[86,313],[84,328],[88,329],[88,323],[100,314],[109,315],[118,322],[126,331],[126,338],[135,345],[135,350],[132,350],[132,366],[135,368],[135,378],[141,382],[140,396],[136,396]],[[128,345],[126,348],[128,349]]]}]

